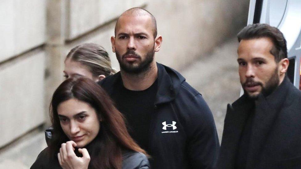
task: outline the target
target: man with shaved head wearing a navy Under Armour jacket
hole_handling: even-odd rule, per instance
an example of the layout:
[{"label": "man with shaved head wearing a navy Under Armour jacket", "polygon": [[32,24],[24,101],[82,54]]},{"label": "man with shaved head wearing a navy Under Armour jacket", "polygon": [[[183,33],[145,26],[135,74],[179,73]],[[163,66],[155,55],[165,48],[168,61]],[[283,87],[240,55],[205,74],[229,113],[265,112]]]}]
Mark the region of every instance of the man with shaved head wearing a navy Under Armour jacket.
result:
[{"label": "man with shaved head wearing a navy Under Armour jacket", "polygon": [[219,142],[212,113],[181,74],[155,62],[162,36],[154,16],[141,8],[125,11],[111,42],[120,72],[100,85],[125,116],[130,135],[151,155],[151,167],[215,167]]}]

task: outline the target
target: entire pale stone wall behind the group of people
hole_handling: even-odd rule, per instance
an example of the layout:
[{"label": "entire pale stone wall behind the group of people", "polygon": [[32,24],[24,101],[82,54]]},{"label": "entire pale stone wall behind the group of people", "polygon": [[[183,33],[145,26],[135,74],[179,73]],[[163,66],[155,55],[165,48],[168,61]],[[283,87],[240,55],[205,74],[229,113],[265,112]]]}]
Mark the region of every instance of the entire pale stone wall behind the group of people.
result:
[{"label": "entire pale stone wall behind the group of people", "polygon": [[64,80],[64,58],[85,42],[112,52],[117,17],[134,6],[157,18],[163,36],[158,62],[176,70],[212,51],[246,24],[240,0],[2,0],[0,1],[0,147],[49,124],[51,95]]}]

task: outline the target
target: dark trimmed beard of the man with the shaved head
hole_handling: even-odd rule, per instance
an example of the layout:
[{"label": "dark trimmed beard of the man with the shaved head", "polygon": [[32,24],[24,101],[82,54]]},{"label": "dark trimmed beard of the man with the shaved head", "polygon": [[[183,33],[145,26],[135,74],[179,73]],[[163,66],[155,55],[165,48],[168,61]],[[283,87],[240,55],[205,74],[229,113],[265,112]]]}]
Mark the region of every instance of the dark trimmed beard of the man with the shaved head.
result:
[{"label": "dark trimmed beard of the man with the shaved head", "polygon": [[[141,62],[138,63],[138,65],[134,65],[134,62],[123,62],[123,58],[129,54],[134,55],[135,58],[140,58]],[[136,54],[134,50],[128,50],[122,56],[120,56],[119,52],[116,50],[116,57],[120,65],[120,69],[122,69],[123,71],[129,74],[140,74],[142,72],[146,72],[147,70],[149,70],[150,63],[153,62],[154,60],[154,54],[155,51],[153,50],[153,48],[151,48],[151,50],[149,50],[145,54],[144,56],[145,59],[142,60],[142,57]]]}]

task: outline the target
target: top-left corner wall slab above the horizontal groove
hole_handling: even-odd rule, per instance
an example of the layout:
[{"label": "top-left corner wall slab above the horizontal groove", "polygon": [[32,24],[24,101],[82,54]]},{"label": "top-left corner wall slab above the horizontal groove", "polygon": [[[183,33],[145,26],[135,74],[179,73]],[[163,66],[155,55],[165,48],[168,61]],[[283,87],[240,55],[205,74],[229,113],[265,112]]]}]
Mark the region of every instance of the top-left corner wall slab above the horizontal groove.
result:
[{"label": "top-left corner wall slab above the horizontal groove", "polygon": [[45,0],[0,1],[0,62],[45,42]]}]

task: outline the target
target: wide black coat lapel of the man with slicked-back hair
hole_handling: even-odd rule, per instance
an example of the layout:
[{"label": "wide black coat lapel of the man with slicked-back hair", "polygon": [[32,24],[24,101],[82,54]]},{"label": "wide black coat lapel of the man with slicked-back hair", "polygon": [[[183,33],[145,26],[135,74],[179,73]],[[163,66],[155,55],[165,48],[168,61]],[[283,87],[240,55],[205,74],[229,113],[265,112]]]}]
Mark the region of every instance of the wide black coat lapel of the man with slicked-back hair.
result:
[{"label": "wide black coat lapel of the man with slicked-back hair", "polygon": [[255,116],[248,154],[248,158],[252,160],[247,163],[247,166],[251,168],[256,167],[256,162],[259,161],[262,147],[266,145],[269,133],[286,100],[289,84],[289,79],[285,77],[283,82],[269,96],[264,97],[260,94],[255,101]]}]

